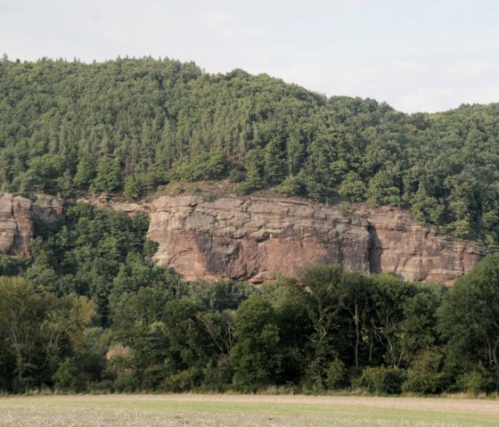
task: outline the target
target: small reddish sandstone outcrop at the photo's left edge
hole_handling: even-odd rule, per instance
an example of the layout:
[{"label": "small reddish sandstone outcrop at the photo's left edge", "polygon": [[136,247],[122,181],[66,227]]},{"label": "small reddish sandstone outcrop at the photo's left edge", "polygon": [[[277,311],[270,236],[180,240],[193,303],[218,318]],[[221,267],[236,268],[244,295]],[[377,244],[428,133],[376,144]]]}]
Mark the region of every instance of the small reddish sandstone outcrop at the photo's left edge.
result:
[{"label": "small reddish sandstone outcrop at the photo's left edge", "polygon": [[33,238],[33,203],[20,196],[0,193],[0,253],[26,255]]}]

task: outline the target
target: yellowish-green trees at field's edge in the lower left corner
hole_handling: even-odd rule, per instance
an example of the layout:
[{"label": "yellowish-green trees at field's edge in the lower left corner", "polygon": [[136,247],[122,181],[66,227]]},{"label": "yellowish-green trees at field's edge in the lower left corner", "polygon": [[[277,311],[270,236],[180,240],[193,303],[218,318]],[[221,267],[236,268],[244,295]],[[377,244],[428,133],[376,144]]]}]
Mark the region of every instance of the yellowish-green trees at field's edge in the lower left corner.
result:
[{"label": "yellowish-green trees at field's edge in the lower left corner", "polygon": [[[61,298],[37,292],[27,280],[0,276],[0,342],[4,390],[23,391],[39,387],[46,377],[66,384],[75,371],[58,363],[62,357],[82,357],[84,333],[94,316],[94,306],[85,297]],[[57,372],[55,372],[57,371]]]}]

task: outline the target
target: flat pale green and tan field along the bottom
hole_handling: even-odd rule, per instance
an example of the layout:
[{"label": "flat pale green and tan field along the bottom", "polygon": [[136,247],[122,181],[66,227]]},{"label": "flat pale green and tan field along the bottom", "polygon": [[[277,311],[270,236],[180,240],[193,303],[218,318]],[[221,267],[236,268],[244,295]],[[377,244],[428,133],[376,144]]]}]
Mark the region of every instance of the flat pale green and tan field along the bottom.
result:
[{"label": "flat pale green and tan field along the bottom", "polygon": [[265,395],[3,397],[0,426],[499,427],[499,401]]}]

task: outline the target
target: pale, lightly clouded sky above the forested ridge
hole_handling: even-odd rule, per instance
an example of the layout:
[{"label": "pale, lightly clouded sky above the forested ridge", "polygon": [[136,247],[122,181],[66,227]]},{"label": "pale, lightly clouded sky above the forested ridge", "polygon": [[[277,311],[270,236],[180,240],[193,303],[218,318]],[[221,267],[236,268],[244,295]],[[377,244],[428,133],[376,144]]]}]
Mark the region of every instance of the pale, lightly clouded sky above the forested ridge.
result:
[{"label": "pale, lightly clouded sky above the forested ridge", "polygon": [[499,102],[498,0],[0,0],[0,55],[193,61],[398,111]]}]

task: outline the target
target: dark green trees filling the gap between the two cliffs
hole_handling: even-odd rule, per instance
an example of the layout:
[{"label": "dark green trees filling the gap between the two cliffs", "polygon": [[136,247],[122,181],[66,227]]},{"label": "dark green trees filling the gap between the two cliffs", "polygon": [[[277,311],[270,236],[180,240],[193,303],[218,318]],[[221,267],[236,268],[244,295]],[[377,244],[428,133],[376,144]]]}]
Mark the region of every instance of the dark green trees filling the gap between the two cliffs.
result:
[{"label": "dark green trees filling the gap between the two cliffs", "polygon": [[122,292],[175,283],[172,275],[145,260],[152,252],[143,237],[148,219],[141,214],[129,218],[77,203],[57,227],[32,243],[35,262],[27,276],[37,289],[92,298],[102,324],[109,324],[110,300]]}]

